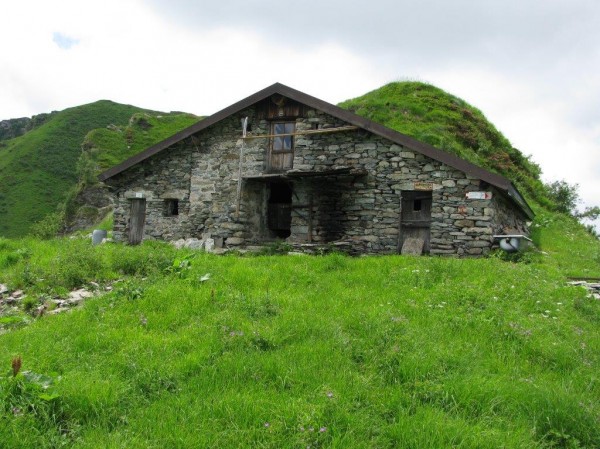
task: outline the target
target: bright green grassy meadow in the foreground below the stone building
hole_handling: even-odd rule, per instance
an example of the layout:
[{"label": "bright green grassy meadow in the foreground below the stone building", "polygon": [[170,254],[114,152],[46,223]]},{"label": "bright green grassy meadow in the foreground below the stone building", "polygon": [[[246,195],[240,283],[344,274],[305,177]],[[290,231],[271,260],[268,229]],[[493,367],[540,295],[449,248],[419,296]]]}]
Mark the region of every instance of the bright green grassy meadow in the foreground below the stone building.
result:
[{"label": "bright green grassy meadow in the foreground below the stone building", "polygon": [[62,376],[48,415],[9,396],[7,447],[600,445],[600,301],[547,258],[199,253],[168,270],[190,253],[89,245],[0,241],[0,279],[31,295],[129,279],[0,335],[0,366]]}]

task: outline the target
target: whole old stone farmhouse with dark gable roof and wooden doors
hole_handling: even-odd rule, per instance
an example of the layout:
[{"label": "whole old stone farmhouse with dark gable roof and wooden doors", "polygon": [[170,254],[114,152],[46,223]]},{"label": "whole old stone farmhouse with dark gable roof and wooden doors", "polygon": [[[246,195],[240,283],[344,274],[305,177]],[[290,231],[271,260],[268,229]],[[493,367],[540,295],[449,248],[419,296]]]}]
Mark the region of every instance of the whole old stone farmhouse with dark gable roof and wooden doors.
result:
[{"label": "whole old stone farmhouse with dark gable roof and wooden doors", "polygon": [[276,83],[99,176],[116,241],[483,255],[527,234],[515,186],[452,154]]}]

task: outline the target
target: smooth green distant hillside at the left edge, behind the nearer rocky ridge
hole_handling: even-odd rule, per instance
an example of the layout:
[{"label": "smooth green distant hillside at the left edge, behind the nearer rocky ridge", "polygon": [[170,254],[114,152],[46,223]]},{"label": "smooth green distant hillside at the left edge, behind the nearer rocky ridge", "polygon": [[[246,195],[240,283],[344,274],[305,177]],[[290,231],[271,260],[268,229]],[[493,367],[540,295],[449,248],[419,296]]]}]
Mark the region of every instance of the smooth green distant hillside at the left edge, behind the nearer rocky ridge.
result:
[{"label": "smooth green distant hillside at the left edge, behind the nearer rocky ridge", "polygon": [[54,114],[0,151],[0,235],[24,235],[77,181],[75,164],[89,130],[127,123],[134,106],[98,101]]}]

